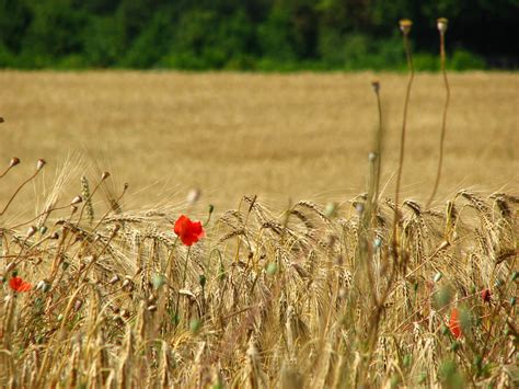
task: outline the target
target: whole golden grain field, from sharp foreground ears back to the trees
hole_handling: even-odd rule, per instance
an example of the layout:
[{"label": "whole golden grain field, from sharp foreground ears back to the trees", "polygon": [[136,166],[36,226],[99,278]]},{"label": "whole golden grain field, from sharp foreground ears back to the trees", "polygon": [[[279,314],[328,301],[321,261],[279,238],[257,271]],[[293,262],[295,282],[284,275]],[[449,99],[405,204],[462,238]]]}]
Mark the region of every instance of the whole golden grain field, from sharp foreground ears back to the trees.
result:
[{"label": "whole golden grain field, from sharp foreground ears back to the trees", "polygon": [[438,75],[395,203],[405,75],[0,72],[0,386],[517,387],[519,78],[449,78],[427,207]]}]

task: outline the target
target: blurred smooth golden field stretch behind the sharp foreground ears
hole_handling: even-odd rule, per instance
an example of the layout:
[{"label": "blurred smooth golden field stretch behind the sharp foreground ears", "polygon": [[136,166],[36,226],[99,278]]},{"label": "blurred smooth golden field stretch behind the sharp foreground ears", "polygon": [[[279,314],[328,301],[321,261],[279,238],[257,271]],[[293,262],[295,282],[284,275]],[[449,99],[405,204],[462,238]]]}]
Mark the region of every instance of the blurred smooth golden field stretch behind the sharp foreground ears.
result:
[{"label": "blurred smooth golden field stretch behind the sharp foreground ears", "polygon": [[[449,78],[452,96],[437,204],[462,187],[517,190],[519,77],[465,72]],[[389,183],[389,191],[397,167],[406,78],[385,72],[2,71],[2,163],[16,156],[23,162],[18,169],[28,174],[36,159],[45,158],[44,181],[50,185],[50,172],[70,155],[78,164],[80,155],[81,165],[97,164],[118,184],[130,183],[126,201],[139,205],[183,199],[193,187],[217,209],[235,207],[245,194],[282,206],[289,198],[350,198],[366,187],[378,121],[374,79],[381,82],[382,183]],[[403,197],[424,202],[430,194],[443,99],[440,75],[417,75]],[[2,203],[20,180],[20,173],[3,180]],[[72,191],[79,191],[79,180],[76,184]],[[38,191],[25,188],[22,195],[34,198]],[[20,198],[15,206],[23,210]]]}]

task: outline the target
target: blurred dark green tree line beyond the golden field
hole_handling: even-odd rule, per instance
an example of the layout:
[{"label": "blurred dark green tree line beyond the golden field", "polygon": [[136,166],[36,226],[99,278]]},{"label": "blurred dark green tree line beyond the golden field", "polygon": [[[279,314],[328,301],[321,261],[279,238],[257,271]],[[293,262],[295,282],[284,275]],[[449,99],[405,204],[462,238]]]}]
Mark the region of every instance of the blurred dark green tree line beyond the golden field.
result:
[{"label": "blurred dark green tree line beyond the golden field", "polygon": [[418,69],[519,64],[518,0],[0,0],[2,68],[403,69],[411,19]]}]

